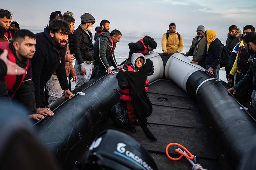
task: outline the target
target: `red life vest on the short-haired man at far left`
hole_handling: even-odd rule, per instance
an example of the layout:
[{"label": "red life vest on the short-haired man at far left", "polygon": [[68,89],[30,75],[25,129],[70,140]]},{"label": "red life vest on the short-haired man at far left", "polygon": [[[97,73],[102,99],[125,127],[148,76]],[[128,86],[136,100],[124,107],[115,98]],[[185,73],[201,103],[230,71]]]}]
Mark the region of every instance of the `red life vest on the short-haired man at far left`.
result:
[{"label": "red life vest on the short-haired man at far left", "polygon": [[[10,61],[12,61],[13,63],[16,63],[16,58],[15,58],[14,54],[12,53],[11,49],[9,48],[9,44],[10,44],[9,42],[1,42],[0,43],[0,49],[3,49],[3,50],[7,49],[7,51],[8,51],[7,58]],[[19,86],[21,86],[21,83],[23,82],[23,80],[25,78],[25,75],[28,71],[28,67],[29,67],[29,59],[28,59],[28,64],[25,68],[26,72],[25,72],[25,74],[23,74],[21,82],[16,82],[16,75],[5,75],[4,76],[4,81],[7,84],[7,89],[14,91],[14,93],[11,94],[10,98],[12,98],[15,95],[15,91],[19,89]],[[17,84],[18,86],[14,86],[15,84]]]}]

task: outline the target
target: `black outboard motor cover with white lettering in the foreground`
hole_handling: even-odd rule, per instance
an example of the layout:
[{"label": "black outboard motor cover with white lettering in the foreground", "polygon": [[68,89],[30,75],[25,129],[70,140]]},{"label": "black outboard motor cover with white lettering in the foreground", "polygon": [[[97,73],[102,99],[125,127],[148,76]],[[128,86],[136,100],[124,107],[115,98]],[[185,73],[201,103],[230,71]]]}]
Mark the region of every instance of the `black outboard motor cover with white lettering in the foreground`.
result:
[{"label": "black outboard motor cover with white lettering in the foreground", "polygon": [[158,170],[158,167],[135,139],[116,130],[106,130],[96,137],[75,169]]}]

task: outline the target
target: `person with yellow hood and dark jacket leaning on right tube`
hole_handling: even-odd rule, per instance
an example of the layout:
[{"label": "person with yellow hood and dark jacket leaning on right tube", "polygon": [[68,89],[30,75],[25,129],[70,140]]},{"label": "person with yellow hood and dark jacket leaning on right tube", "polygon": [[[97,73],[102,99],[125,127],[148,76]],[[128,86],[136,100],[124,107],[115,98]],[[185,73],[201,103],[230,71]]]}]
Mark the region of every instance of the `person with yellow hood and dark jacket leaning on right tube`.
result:
[{"label": "person with yellow hood and dark jacket leaning on right tube", "polygon": [[221,41],[216,38],[216,35],[217,33],[214,30],[205,31],[205,41],[207,44],[205,46],[205,51],[200,62],[205,60],[207,72],[219,78],[223,46]]}]

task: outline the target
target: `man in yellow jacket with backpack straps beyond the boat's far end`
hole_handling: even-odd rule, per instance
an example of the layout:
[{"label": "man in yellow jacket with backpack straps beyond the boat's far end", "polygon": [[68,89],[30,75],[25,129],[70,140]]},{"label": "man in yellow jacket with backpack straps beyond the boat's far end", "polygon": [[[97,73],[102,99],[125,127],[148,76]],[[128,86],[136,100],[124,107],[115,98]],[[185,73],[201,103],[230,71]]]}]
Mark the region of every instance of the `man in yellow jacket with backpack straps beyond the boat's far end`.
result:
[{"label": "man in yellow jacket with backpack straps beyond the boat's far end", "polygon": [[180,53],[184,48],[182,36],[176,33],[175,23],[170,23],[169,30],[163,34],[162,50],[165,55]]}]

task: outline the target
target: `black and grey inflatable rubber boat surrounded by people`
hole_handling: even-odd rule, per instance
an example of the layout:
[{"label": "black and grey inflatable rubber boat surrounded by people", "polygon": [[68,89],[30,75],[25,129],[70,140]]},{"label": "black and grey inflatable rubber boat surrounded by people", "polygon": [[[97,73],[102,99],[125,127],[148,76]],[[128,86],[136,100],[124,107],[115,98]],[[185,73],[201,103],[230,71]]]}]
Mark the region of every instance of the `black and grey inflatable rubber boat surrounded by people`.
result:
[{"label": "black and grey inflatable rubber boat surrounded by people", "polygon": [[[93,138],[105,129],[123,131],[151,153],[159,169],[191,168],[184,160],[169,160],[165,147],[170,142],[186,146],[209,169],[237,169],[242,154],[255,145],[254,110],[241,106],[229,95],[227,84],[190,63],[182,54],[152,53],[154,74],[148,95],[153,114],[148,122],[158,138],[146,138],[140,127],[136,133],[118,128],[109,119],[112,105],[119,100],[116,74],[104,74],[73,91],[71,100],[52,103],[54,116],[35,123],[40,141],[53,153],[62,169],[70,169],[88,149]],[[174,149],[173,149],[174,150]],[[174,151],[170,154],[176,155]]]}]

